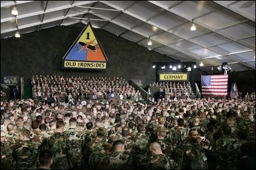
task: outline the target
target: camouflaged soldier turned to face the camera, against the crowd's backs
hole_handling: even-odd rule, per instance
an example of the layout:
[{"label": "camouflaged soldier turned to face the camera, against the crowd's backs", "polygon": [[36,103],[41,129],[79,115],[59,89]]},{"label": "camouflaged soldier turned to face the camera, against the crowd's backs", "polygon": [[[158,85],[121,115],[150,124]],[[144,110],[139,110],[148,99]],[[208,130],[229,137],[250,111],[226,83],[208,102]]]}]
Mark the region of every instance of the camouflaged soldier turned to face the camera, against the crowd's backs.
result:
[{"label": "camouflaged soldier turned to face the camera, against the crowd's backs", "polygon": [[183,157],[181,161],[182,169],[208,169],[207,158],[204,148],[202,148],[202,139],[196,129],[189,131],[188,140],[185,141],[183,148]]}]

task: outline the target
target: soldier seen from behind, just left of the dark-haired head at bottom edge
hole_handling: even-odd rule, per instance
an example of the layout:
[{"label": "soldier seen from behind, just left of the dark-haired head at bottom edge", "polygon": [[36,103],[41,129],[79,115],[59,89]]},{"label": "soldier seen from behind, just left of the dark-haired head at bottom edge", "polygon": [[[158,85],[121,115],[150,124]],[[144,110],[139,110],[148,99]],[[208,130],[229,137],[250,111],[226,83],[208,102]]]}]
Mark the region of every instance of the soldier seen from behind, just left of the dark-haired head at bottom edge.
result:
[{"label": "soldier seen from behind, just left of the dark-haired head at bottom edge", "polygon": [[12,152],[13,166],[16,169],[28,169],[36,166],[38,156],[38,144],[29,139],[30,132],[27,129],[20,130],[20,143],[15,145]]}]

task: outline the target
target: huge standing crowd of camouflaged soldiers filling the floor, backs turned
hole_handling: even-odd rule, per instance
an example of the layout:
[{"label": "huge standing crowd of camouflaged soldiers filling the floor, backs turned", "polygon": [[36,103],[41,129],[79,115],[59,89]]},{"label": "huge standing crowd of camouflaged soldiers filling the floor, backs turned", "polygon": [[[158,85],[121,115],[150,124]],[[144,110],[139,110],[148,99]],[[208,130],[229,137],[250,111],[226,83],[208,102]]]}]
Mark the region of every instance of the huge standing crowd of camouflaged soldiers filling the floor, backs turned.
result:
[{"label": "huge standing crowd of camouflaged soldiers filling the floor, backs turned", "polygon": [[1,101],[1,168],[237,169],[253,165],[255,100]]}]

